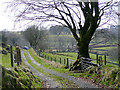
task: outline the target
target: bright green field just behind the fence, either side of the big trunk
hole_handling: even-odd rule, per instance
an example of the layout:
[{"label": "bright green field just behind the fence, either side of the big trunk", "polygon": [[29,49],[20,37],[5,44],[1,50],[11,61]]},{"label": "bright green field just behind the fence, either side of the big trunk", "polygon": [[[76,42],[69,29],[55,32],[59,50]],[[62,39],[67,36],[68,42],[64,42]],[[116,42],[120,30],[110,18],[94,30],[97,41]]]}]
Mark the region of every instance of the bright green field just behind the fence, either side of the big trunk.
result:
[{"label": "bright green field just behind the fence, either side of the big trunk", "polygon": [[[67,58],[69,60],[74,60],[74,61],[77,59],[77,53],[74,53],[74,52],[65,52],[65,53],[62,52],[62,53],[56,53],[56,54],[42,52],[42,54],[46,55],[46,59],[49,61],[51,61],[51,57],[52,57],[52,59],[56,58],[56,62],[58,62],[58,63],[60,62],[60,58],[61,58],[61,60],[62,60],[61,64],[64,64],[64,59],[66,60]],[[99,55],[99,56],[101,56],[102,60],[104,61],[104,55]],[[90,57],[91,57],[91,59],[96,59],[96,54],[90,53]],[[106,56],[106,60],[107,60],[107,62],[117,63],[117,61],[111,60],[111,58],[109,56]],[[71,61],[71,63],[73,63],[74,61]],[[97,63],[97,61],[92,61],[92,62]],[[109,63],[107,63],[107,64],[109,64]]]}]

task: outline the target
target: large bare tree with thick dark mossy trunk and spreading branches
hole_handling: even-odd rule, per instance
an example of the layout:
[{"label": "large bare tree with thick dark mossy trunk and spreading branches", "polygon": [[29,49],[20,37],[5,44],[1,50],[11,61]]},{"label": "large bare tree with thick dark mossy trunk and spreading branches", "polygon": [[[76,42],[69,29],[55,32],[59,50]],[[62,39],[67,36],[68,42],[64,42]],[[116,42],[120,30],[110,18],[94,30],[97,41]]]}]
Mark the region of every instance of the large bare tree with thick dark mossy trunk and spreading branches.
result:
[{"label": "large bare tree with thick dark mossy trunk and spreading branches", "polygon": [[[39,0],[19,0],[14,6],[20,7],[17,21],[20,20],[40,20],[42,22],[53,21],[68,27],[77,42],[78,59],[80,57],[89,58],[89,43],[96,29],[109,21],[100,24],[104,19],[103,15],[113,15],[110,10],[116,2],[92,2],[92,0],[75,1],[39,1]],[[17,9],[18,9],[17,8]],[[78,32],[78,34],[77,34]]]}]

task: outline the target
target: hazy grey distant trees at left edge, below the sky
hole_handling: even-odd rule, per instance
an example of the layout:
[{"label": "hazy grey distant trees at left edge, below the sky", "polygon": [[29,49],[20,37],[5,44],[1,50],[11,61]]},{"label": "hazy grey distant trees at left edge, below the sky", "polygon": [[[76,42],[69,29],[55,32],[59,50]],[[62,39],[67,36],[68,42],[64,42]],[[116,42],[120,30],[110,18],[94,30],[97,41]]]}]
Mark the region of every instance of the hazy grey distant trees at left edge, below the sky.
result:
[{"label": "hazy grey distant trees at left edge, below the sky", "polygon": [[12,46],[29,46],[29,42],[27,42],[20,32],[13,32],[8,30],[0,31],[0,41]]}]

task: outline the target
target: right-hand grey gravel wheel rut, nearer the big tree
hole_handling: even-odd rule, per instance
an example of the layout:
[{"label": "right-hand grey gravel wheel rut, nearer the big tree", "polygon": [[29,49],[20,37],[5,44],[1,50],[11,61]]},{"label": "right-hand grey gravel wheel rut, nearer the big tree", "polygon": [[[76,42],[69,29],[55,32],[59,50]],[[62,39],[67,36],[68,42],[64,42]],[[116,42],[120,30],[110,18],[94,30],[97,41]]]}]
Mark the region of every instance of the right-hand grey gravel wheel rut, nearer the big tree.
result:
[{"label": "right-hand grey gravel wheel rut, nearer the big tree", "polygon": [[[72,76],[68,76],[67,74],[64,74],[64,73],[58,73],[58,72],[55,72],[53,70],[50,70],[48,68],[45,68],[43,65],[39,64],[38,62],[36,62],[32,57],[31,55],[29,54],[29,52],[27,51],[27,54],[28,54],[28,57],[29,59],[34,63],[36,64],[37,66],[39,66],[41,69],[43,69],[44,71],[50,73],[50,74],[53,74],[55,76],[59,76],[59,77],[62,77],[62,78],[65,78],[67,80],[72,80],[73,83],[77,84],[80,88],[98,88],[97,86],[95,85],[92,85],[91,83],[89,82],[85,82],[84,80],[80,79],[80,78],[75,78],[75,77],[72,77]],[[43,58],[41,58],[43,59]]]}]

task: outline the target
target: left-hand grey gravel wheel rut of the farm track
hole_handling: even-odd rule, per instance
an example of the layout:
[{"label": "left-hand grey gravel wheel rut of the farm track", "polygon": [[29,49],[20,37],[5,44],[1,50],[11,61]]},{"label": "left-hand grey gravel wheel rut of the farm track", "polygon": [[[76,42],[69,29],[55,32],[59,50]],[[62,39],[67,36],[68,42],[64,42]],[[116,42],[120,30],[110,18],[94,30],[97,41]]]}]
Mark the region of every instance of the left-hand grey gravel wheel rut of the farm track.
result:
[{"label": "left-hand grey gravel wheel rut of the farm track", "polygon": [[37,71],[34,67],[32,67],[28,62],[27,62],[27,60],[26,60],[26,58],[25,58],[25,56],[24,56],[24,54],[23,54],[23,51],[21,51],[21,54],[22,54],[22,58],[23,58],[23,61],[24,61],[24,63],[32,70],[32,72],[36,75],[36,76],[38,76],[38,77],[40,77],[42,80],[43,80],[43,82],[44,82],[44,84],[45,84],[45,88],[61,88],[62,86],[61,85],[59,85],[55,80],[53,80],[53,79],[51,79],[51,78],[49,78],[49,77],[47,77],[47,76],[44,76],[42,73],[40,73],[39,71]]}]

